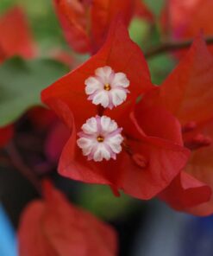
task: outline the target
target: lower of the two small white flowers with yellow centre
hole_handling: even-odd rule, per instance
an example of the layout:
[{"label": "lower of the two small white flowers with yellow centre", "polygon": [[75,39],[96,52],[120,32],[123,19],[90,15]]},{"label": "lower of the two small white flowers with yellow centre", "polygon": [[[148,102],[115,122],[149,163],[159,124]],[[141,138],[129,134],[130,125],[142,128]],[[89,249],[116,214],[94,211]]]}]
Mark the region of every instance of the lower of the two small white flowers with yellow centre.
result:
[{"label": "lower of the two small white flowers with yellow centre", "polygon": [[116,154],[122,151],[122,128],[111,118],[96,116],[87,119],[78,133],[77,144],[88,160],[101,162],[103,159],[116,160]]}]

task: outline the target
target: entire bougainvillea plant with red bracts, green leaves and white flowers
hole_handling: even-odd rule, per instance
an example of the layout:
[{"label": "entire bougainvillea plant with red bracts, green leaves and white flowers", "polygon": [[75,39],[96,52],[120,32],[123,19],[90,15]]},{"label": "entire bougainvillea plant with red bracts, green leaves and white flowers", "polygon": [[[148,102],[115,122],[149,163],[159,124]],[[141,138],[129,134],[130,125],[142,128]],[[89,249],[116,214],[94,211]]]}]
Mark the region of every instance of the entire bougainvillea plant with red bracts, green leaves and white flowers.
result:
[{"label": "entire bougainvillea plant with red bracts, green leaves and white flowers", "polygon": [[0,14],[0,167],[37,196],[18,213],[19,255],[118,255],[84,186],[110,187],[106,220],[115,198],[123,212],[158,198],[213,214],[212,1],[52,2],[51,16],[26,6],[31,22],[21,7]]}]

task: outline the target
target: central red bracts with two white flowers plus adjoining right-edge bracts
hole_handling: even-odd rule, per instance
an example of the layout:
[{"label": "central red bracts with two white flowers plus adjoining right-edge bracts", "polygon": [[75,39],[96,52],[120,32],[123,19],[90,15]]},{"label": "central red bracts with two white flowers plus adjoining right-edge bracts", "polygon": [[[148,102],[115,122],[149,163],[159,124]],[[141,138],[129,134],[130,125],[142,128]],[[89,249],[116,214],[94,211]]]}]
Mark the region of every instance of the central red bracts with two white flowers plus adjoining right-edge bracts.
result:
[{"label": "central red bracts with two white flowers plus adjoining right-edge bracts", "polygon": [[97,54],[42,92],[72,131],[60,174],[210,214],[209,174],[203,175],[199,161],[204,166],[201,156],[211,150],[211,68],[199,35],[164,84],[153,86],[141,50],[116,19]]}]

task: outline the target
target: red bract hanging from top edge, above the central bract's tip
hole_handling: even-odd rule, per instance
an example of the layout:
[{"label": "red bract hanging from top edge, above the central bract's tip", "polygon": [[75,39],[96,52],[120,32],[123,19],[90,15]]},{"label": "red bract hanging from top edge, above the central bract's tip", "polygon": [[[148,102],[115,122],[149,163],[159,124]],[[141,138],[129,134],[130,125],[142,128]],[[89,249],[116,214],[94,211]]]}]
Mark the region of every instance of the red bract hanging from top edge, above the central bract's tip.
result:
[{"label": "red bract hanging from top edge, above the central bract's tip", "polygon": [[103,45],[110,23],[122,14],[126,25],[137,8],[138,15],[151,19],[151,14],[136,0],[54,0],[66,40],[80,52],[92,54]]}]

